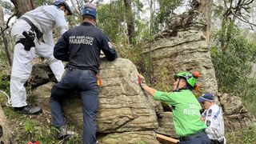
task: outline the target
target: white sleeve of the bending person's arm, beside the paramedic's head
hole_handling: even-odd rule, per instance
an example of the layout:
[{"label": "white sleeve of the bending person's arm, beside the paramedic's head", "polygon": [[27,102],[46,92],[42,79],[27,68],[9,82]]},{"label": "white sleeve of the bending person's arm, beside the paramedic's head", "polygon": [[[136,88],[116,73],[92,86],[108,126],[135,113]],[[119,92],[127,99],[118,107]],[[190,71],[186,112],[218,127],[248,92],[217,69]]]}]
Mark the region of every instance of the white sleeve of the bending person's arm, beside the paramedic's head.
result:
[{"label": "white sleeve of the bending person's arm, beside the paramedic's head", "polygon": [[55,24],[56,28],[61,34],[64,34],[67,30],[69,30],[68,23],[66,22],[66,18],[62,10],[57,10],[57,14],[55,15]]}]

